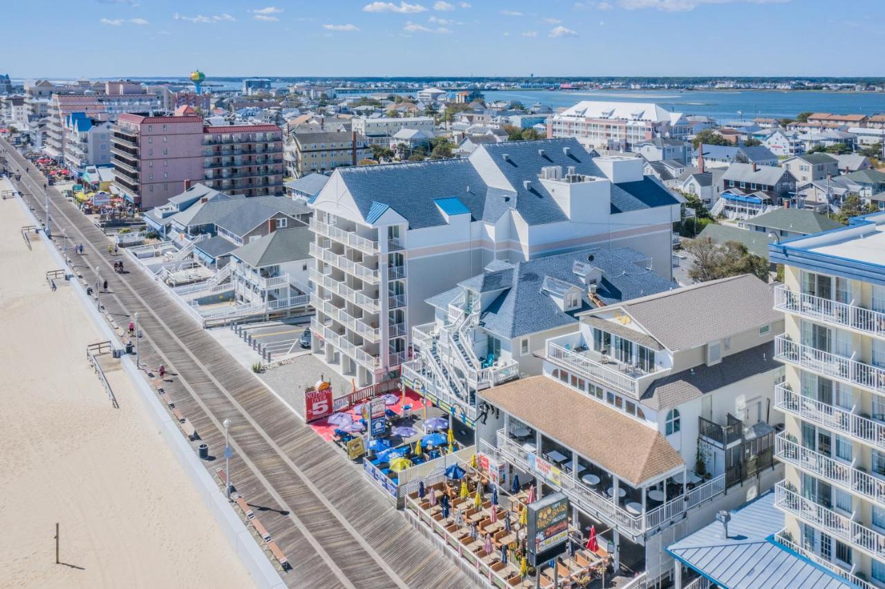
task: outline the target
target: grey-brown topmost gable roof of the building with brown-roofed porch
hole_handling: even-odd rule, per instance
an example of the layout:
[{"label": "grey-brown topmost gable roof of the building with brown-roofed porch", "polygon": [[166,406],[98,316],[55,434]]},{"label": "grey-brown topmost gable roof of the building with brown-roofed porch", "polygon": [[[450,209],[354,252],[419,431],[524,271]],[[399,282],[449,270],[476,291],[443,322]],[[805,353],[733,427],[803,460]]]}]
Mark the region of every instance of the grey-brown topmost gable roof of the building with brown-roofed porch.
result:
[{"label": "grey-brown topmost gable roof of the building with brown-roofed porch", "polygon": [[782,316],[773,305],[771,288],[743,274],[644,296],[620,308],[675,352],[777,321]]}]

